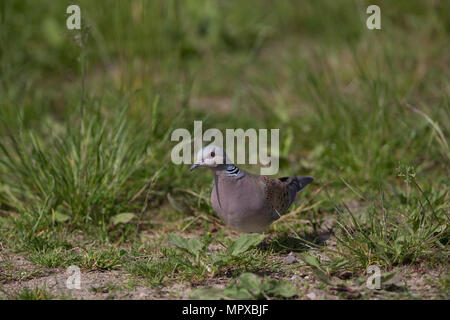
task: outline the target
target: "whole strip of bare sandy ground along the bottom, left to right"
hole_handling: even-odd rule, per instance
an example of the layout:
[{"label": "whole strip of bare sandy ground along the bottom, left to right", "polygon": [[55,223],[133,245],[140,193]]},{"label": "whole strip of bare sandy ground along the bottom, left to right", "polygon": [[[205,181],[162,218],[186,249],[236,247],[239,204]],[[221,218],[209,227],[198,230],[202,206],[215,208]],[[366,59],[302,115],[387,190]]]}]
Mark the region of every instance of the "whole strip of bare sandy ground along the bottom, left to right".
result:
[{"label": "whole strip of bare sandy ground along the bottom, left to right", "polygon": [[[210,245],[210,250],[219,250]],[[279,254],[273,259],[280,261],[279,272],[259,274],[275,279],[286,279],[297,287],[296,299],[449,299],[445,282],[446,268],[415,265],[396,267],[389,280],[382,282],[379,290],[366,286],[366,275],[343,273],[332,277],[326,284],[294,252]],[[43,289],[54,299],[188,299],[192,290],[199,287],[225,288],[230,283],[229,275],[205,279],[200,283],[180,281],[163,287],[152,287],[144,280],[133,277],[122,270],[80,270],[80,288],[69,289],[67,282],[73,273],[65,268],[43,268],[26,260],[21,255],[0,252],[0,298],[21,299],[20,293]],[[69,283],[73,283],[70,282]],[[444,283],[444,284],[443,284]],[[207,297],[205,297],[207,298]]]}]

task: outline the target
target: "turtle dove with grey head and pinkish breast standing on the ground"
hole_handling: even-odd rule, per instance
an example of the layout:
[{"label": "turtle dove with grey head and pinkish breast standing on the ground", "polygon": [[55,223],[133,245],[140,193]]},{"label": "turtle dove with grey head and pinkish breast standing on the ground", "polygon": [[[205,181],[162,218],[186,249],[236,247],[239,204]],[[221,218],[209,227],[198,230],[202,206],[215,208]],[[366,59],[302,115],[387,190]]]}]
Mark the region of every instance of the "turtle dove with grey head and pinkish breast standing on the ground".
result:
[{"label": "turtle dove with grey head and pinkish breast standing on the ground", "polygon": [[202,148],[193,171],[209,168],[214,174],[211,204],[227,225],[243,233],[262,233],[294,202],[298,192],[314,178],[309,176],[273,179],[248,173],[234,165],[217,146]]}]

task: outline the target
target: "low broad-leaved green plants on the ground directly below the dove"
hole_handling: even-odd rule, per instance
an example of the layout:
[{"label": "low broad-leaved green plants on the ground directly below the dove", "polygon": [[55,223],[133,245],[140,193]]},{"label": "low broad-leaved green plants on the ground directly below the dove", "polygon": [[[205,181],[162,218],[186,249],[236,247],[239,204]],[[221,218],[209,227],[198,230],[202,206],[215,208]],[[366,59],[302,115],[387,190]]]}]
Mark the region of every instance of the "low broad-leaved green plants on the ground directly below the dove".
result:
[{"label": "low broad-leaved green plants on the ground directly below the dove", "polygon": [[254,248],[263,237],[252,238],[244,236],[232,241],[223,236],[213,238],[209,233],[198,238],[183,238],[171,233],[169,244],[163,239],[158,241],[161,249],[157,252],[148,252],[146,248],[143,248],[145,253],[132,250],[125,265],[130,274],[146,279],[155,287],[175,281],[201,284],[223,274],[277,270],[279,262],[272,261],[267,252]]}]

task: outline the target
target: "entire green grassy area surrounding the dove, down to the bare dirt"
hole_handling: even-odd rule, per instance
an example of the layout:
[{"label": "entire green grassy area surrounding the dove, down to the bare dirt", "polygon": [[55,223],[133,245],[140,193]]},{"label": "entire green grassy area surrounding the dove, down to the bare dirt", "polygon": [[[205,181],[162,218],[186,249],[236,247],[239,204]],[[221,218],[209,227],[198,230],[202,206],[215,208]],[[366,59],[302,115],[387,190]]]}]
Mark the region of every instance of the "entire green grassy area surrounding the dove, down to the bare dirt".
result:
[{"label": "entire green grassy area surrounding the dove, down to the bare dirt", "polygon": [[[188,289],[245,272],[358,283],[372,264],[446,267],[446,2],[382,2],[376,31],[367,1],[78,3],[81,31],[65,28],[66,1],[0,5],[5,252]],[[278,176],[316,178],[267,248],[227,257],[236,236],[211,208],[210,174],[170,162],[171,132],[194,120],[280,128]],[[316,265],[285,266],[290,251]]]}]

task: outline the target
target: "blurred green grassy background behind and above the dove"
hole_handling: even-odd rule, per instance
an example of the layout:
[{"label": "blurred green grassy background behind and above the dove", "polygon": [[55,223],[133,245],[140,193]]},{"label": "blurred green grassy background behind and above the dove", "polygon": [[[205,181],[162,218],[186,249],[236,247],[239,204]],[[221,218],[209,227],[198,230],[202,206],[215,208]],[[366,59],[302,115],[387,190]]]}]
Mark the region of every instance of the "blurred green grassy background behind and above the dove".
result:
[{"label": "blurred green grassy background behind and above the dove", "polygon": [[[81,31],[66,28],[72,3]],[[404,203],[405,172],[446,202],[450,3],[379,1],[381,30],[370,4],[2,1],[2,212],[33,232],[107,231],[170,199],[212,214],[209,173],[170,162],[171,132],[194,120],[280,128],[279,175],[328,190],[313,214],[355,198],[344,181]]]}]

